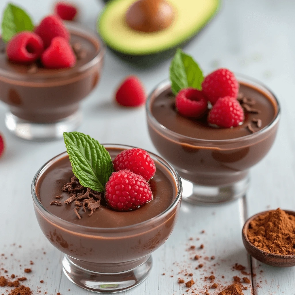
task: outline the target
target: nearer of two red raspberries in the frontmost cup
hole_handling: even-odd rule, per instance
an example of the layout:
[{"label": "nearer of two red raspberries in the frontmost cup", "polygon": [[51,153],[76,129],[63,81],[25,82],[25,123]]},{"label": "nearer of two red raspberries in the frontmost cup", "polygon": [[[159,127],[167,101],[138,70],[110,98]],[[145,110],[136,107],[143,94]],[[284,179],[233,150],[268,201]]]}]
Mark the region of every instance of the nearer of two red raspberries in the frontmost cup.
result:
[{"label": "nearer of two red raspberries in the frontmost cup", "polygon": [[153,194],[144,178],[124,169],[112,173],[106,183],[105,198],[113,209],[128,211],[149,202]]}]

